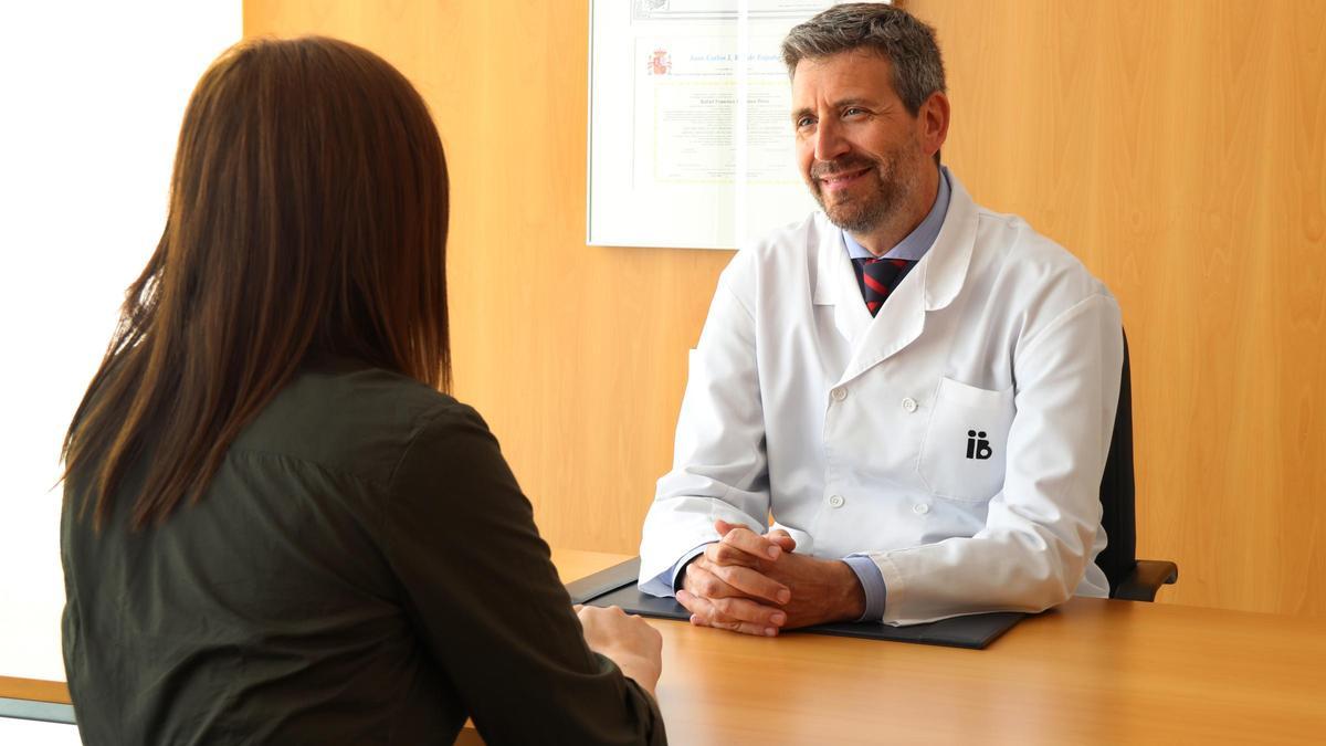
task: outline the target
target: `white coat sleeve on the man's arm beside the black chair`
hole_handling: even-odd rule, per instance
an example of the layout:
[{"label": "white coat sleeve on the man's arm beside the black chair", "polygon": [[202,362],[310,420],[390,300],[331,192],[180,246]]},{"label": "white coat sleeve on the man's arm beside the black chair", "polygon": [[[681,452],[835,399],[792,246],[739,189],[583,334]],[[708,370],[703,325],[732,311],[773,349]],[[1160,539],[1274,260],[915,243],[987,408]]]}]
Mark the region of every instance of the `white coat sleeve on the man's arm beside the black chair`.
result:
[{"label": "white coat sleeve on the man's arm beside the black chair", "polygon": [[883,621],[1067,600],[1091,561],[1101,474],[1119,400],[1119,307],[1093,295],[1018,342],[1004,488],[971,538],[870,552],[888,588]]}]

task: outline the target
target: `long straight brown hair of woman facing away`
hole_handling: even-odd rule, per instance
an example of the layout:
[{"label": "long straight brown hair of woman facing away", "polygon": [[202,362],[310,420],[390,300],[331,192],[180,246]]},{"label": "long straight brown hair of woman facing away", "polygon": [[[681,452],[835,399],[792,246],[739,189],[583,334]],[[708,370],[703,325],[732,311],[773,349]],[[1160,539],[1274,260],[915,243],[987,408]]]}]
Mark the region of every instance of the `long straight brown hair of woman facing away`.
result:
[{"label": "long straight brown hair of woman facing away", "polygon": [[131,526],[196,500],[298,366],[333,354],[450,389],[447,165],[427,106],[377,54],[243,41],[184,113],[166,230],[65,435],[105,524],[145,458]]}]

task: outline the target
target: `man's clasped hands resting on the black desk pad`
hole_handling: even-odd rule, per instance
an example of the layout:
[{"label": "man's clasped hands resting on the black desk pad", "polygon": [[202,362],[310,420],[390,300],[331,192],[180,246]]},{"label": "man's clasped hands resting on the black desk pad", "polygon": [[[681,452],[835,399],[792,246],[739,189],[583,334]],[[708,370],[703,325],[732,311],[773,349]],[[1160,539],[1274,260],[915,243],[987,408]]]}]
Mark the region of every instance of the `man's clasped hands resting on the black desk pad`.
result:
[{"label": "man's clasped hands resting on the black desk pad", "polygon": [[691,624],[773,637],[782,629],[857,620],[866,593],[847,563],[794,554],[786,531],[764,535],[713,522],[721,538],[686,567],[676,600]]}]

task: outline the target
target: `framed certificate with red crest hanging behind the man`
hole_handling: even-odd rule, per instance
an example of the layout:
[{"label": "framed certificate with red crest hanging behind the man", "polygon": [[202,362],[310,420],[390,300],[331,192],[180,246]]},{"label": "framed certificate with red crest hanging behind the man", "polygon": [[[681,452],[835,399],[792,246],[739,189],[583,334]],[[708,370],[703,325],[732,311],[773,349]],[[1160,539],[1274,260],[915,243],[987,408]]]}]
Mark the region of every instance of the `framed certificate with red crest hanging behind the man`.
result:
[{"label": "framed certificate with red crest hanging behind the man", "polygon": [[591,0],[586,242],[735,248],[805,218],[780,45],[827,0]]}]

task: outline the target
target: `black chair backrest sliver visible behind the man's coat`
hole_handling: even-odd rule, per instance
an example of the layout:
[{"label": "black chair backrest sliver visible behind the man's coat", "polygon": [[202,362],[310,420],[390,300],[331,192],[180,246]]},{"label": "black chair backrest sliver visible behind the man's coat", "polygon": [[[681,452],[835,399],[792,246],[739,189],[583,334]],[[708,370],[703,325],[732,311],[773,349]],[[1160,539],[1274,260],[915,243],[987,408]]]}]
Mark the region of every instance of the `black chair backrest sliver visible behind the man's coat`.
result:
[{"label": "black chair backrest sliver visible behind the man's coat", "polygon": [[1095,558],[1105,571],[1113,596],[1138,564],[1138,526],[1132,478],[1132,382],[1128,373],[1128,336],[1123,336],[1123,372],[1119,380],[1119,408],[1114,413],[1114,437],[1101,475],[1101,524],[1109,544]]}]

